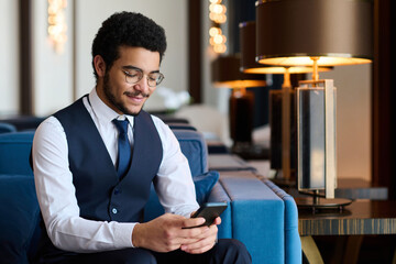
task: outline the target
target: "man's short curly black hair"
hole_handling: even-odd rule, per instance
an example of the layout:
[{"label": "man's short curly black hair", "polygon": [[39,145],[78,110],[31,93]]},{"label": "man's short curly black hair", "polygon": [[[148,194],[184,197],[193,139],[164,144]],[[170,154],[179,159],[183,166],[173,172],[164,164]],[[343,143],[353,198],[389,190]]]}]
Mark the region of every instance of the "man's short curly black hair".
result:
[{"label": "man's short curly black hair", "polygon": [[165,31],[141,13],[124,11],[112,14],[103,21],[92,43],[92,66],[96,79],[98,79],[98,74],[94,65],[95,56],[100,55],[103,58],[108,70],[120,57],[120,46],[144,47],[151,52],[158,52],[161,62],[166,50]]}]

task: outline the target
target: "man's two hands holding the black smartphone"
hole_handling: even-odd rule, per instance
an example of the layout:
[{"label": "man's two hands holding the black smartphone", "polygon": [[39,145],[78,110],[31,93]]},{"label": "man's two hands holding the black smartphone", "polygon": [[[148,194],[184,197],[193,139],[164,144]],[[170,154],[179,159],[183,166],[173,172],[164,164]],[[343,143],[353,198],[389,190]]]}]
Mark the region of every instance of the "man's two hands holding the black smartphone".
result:
[{"label": "man's two hands holding the black smartphone", "polygon": [[[165,213],[150,222],[136,224],[133,229],[132,243],[156,252],[169,252],[180,249],[188,253],[201,253],[215,245],[217,218],[210,227],[199,227],[204,218],[187,219],[182,216]],[[189,229],[186,229],[189,228]]]}]

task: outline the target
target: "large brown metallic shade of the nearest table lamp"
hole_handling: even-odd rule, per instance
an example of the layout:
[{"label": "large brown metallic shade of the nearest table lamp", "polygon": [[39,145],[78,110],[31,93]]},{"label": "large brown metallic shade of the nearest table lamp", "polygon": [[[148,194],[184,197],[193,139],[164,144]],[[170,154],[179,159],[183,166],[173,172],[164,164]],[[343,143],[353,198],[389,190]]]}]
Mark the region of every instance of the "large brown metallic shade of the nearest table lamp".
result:
[{"label": "large brown metallic shade of the nearest table lamp", "polygon": [[370,0],[258,0],[256,61],[319,66],[370,63],[373,55]]}]

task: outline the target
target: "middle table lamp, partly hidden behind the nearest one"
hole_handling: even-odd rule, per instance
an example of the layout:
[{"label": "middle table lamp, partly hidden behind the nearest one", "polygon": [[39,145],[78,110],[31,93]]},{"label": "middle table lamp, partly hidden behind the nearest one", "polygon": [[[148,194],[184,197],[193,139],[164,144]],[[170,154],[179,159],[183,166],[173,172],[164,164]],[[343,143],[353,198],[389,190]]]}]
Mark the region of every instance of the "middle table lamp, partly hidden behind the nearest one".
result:
[{"label": "middle table lamp, partly hidden behind the nearest one", "polygon": [[[312,73],[312,67],[306,66],[272,66],[258,64],[255,61],[256,22],[240,23],[241,72],[245,74],[283,74],[282,90],[270,90],[270,128],[271,128],[271,168],[282,169],[282,176],[276,174],[275,183],[293,185],[292,170],[295,170],[296,160],[296,111],[295,90],[290,84],[290,74]],[[271,41],[267,40],[267,41]],[[329,72],[332,67],[319,67],[319,72]]]}]

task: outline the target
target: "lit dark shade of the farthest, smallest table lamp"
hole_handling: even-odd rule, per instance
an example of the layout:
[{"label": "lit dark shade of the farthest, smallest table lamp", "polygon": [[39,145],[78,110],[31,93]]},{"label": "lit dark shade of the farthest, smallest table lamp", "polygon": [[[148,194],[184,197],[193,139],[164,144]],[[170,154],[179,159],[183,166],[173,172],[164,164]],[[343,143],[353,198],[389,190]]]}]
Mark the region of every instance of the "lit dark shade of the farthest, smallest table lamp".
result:
[{"label": "lit dark shade of the farthest, smallest table lamp", "polygon": [[217,57],[211,65],[213,86],[248,88],[266,85],[265,80],[263,80],[263,76],[241,73],[240,65],[240,54]]}]

